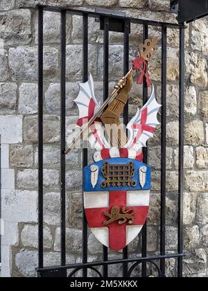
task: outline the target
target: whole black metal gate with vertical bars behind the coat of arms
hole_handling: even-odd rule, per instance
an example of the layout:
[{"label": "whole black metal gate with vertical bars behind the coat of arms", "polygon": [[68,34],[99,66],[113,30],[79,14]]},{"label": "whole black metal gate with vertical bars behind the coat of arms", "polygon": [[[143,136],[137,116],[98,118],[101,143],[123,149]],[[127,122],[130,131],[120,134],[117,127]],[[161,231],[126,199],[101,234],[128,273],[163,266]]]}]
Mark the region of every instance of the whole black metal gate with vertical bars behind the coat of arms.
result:
[{"label": "whole black metal gate with vertical bars behind the coat of arms", "polygon": [[[71,272],[70,276],[76,274],[78,270],[83,270],[83,276],[87,276],[87,269],[92,269],[97,272],[99,276],[107,277],[108,265],[123,264],[123,277],[130,276],[132,271],[137,265],[141,264],[141,276],[147,276],[147,263],[152,263],[157,268],[159,276],[164,277],[165,273],[165,260],[167,258],[177,258],[177,276],[182,276],[182,258],[183,254],[183,155],[184,155],[184,25],[178,26],[177,24],[168,24],[160,21],[148,21],[144,19],[135,19],[131,17],[121,17],[115,15],[106,15],[102,12],[90,12],[82,10],[73,10],[70,8],[55,8],[51,6],[38,5],[38,206],[39,206],[39,265],[37,272],[39,276],[67,276],[67,270],[75,269]],[[61,182],[60,182],[60,198],[61,198],[61,260],[60,266],[44,267],[44,247],[43,247],[43,12],[53,11],[60,12],[61,15],[61,76],[60,76],[60,166],[61,166]],[[65,142],[66,142],[66,15],[69,12],[72,15],[81,15],[83,17],[83,82],[88,79],[89,73],[89,60],[88,60],[88,19],[89,17],[100,17],[104,23],[103,27],[103,98],[104,100],[109,94],[109,32],[110,20],[117,19],[117,21],[124,21],[123,29],[123,73],[128,72],[129,69],[129,33],[130,24],[142,24],[144,28],[143,38],[148,38],[149,26],[160,26],[162,28],[162,138],[161,138],[161,219],[160,219],[160,255],[147,256],[147,225],[144,225],[142,231],[142,246],[141,257],[128,258],[128,247],[123,249],[123,259],[108,261],[108,249],[103,247],[103,261],[88,263],[87,261],[87,220],[85,212],[83,211],[83,262],[71,265],[66,265],[66,191],[65,191],[65,170],[66,170],[66,157]],[[166,59],[167,59],[167,28],[180,28],[180,145],[179,145],[179,193],[178,193],[178,254],[166,255]],[[143,85],[143,102],[148,100],[148,88],[146,83]],[[125,106],[123,121],[128,123],[128,105]],[[144,148],[144,163],[147,163],[148,149]],[[83,167],[88,164],[88,151],[83,149]],[[160,267],[153,261],[159,260]],[[134,263],[130,270],[128,270],[128,263]],[[96,266],[103,266],[103,275],[98,270],[94,269]]]}]

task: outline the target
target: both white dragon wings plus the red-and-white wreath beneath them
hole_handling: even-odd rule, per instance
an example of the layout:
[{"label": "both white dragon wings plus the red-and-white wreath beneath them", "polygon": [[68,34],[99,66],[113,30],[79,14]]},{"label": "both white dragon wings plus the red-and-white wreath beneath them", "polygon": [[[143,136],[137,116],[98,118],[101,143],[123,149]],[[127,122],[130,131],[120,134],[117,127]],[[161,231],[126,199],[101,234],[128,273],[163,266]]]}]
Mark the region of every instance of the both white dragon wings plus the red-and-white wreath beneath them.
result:
[{"label": "both white dragon wings plus the red-and-white wreath beneath them", "polygon": [[[91,74],[89,74],[89,80],[80,83],[79,86],[80,91],[74,102],[79,109],[77,126],[82,128],[94,116],[99,104],[94,94],[94,81]],[[146,147],[146,142],[153,137],[155,127],[159,125],[157,113],[160,107],[155,98],[154,85],[152,85],[152,92],[147,103],[141,109],[137,109],[137,114],[127,125],[129,139],[121,150],[111,148],[105,139],[105,127],[97,118],[90,126],[88,136],[91,147],[96,149],[94,160],[99,161],[106,157],[129,157],[141,161],[141,148]]]}]

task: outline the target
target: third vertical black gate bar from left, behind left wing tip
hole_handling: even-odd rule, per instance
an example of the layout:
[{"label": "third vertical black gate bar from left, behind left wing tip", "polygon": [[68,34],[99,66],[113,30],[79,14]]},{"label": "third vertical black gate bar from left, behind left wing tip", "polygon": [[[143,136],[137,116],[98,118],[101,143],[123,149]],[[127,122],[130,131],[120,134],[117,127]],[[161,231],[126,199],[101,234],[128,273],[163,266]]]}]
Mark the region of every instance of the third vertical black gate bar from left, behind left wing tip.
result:
[{"label": "third vertical black gate bar from left, behind left wing tip", "polygon": [[[83,14],[83,82],[88,80],[88,15]],[[88,150],[83,148],[83,170],[88,164]],[[84,177],[84,175],[83,175]],[[84,205],[84,202],[83,202]],[[87,218],[83,207],[83,263],[87,263]],[[87,277],[87,269],[83,269]]]}]

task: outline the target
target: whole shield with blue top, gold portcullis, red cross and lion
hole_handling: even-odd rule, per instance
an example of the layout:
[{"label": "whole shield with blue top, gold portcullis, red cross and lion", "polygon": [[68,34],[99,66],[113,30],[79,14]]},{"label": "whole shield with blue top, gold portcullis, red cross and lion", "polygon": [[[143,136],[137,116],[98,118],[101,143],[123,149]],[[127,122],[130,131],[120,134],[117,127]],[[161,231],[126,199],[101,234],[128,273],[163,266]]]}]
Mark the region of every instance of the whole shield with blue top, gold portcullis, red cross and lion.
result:
[{"label": "whole shield with blue top, gold portcullis, red cross and lion", "polygon": [[84,206],[94,236],[119,251],[141,231],[150,201],[150,166],[110,158],[85,167]]}]

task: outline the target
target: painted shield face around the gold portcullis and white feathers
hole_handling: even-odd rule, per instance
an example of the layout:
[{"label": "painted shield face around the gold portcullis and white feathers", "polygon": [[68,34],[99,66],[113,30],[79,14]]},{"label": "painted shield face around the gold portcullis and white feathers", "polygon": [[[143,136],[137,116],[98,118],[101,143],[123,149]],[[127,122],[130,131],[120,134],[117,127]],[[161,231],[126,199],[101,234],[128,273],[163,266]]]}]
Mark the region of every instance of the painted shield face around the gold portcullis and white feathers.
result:
[{"label": "painted shield face around the gold portcullis and white feathers", "polygon": [[[106,247],[119,251],[138,236],[146,222],[150,201],[150,168],[146,165],[148,171],[146,171],[145,185],[138,182],[134,187],[114,186],[107,187],[107,191],[105,189],[101,191],[103,176],[98,174],[96,186],[92,186],[89,169],[97,167],[101,172],[105,161],[113,164],[115,160],[118,164],[118,161],[127,163],[130,159],[109,159],[85,168],[84,206],[87,222],[94,236]],[[144,167],[145,164],[136,160],[132,161],[134,161],[137,172],[135,178],[139,181],[139,168]],[[119,189],[116,190],[116,188]],[[112,219],[110,222],[114,210],[119,212],[121,218],[114,221]],[[125,222],[123,223],[123,221]]]}]

